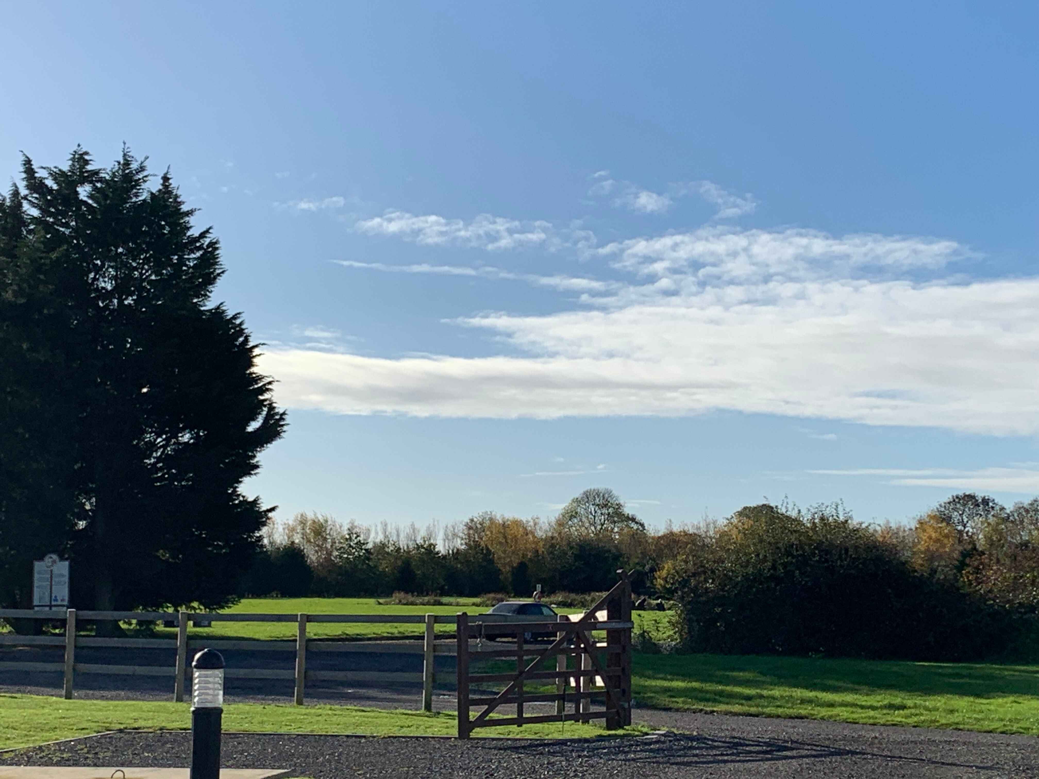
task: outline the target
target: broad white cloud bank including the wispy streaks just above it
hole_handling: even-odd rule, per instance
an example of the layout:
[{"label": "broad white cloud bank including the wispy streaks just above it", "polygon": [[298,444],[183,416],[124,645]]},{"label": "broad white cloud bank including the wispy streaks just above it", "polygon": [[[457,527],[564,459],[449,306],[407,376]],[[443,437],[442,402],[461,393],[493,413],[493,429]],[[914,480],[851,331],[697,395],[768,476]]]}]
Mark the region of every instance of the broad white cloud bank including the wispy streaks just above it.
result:
[{"label": "broad white cloud bank including the wispy streaks just above it", "polygon": [[[391,212],[358,230],[437,245],[553,248],[548,237],[559,231],[538,224],[545,238],[500,217],[463,222]],[[272,349],[263,368],[278,379],[282,403],[336,413],[556,419],[729,409],[1039,432],[1039,278],[937,275],[973,257],[955,241],[715,225],[617,241],[586,256],[609,262],[625,280],[343,262],[522,280],[581,297],[550,314],[453,320],[505,342],[508,355],[376,357],[297,347]]]}]

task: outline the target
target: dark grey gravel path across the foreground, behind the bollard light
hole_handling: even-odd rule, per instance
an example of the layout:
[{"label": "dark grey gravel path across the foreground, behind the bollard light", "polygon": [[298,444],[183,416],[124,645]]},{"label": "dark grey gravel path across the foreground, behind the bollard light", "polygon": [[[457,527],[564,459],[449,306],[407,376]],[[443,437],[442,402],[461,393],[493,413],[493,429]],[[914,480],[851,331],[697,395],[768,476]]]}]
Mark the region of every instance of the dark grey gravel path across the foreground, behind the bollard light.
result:
[{"label": "dark grey gravel path across the foreground, behind the bollard light", "polygon": [[[314,779],[1039,777],[1030,736],[645,709],[637,719],[687,732],[558,742],[229,733],[223,764]],[[121,732],[0,753],[0,764],[174,767],[189,756],[188,733]]]}]

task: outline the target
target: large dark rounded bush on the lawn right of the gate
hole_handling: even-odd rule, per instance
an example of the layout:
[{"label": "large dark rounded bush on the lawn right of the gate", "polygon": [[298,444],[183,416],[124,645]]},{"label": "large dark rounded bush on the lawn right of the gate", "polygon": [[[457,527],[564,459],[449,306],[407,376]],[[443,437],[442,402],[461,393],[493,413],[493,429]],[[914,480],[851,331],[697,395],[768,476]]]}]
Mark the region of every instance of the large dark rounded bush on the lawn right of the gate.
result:
[{"label": "large dark rounded bush on the lawn right of the gate", "polygon": [[840,507],[741,509],[666,564],[687,649],[729,654],[977,659],[1003,615],[920,573]]}]

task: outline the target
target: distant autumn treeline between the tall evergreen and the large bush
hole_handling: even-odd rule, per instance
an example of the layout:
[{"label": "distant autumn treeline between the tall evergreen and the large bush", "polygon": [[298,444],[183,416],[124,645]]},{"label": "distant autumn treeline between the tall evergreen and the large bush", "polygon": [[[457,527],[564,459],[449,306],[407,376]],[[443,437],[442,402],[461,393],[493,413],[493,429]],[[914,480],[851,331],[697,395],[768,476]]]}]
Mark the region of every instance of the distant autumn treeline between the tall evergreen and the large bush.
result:
[{"label": "distant autumn treeline between the tall evergreen and the large bush", "polygon": [[544,592],[608,590],[620,567],[637,568],[636,586],[646,590],[666,545],[609,489],[585,490],[552,520],[488,511],[443,530],[373,531],[304,512],[268,529],[242,593],[529,597],[536,585]]}]

